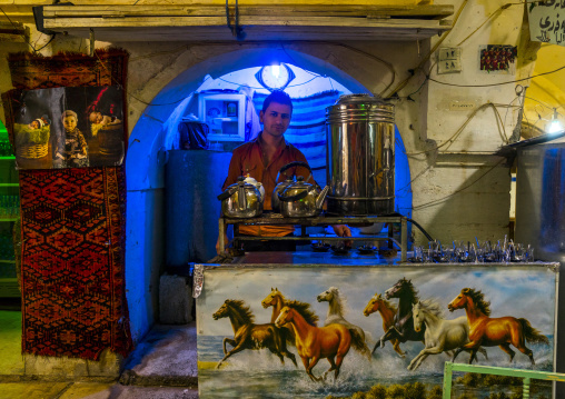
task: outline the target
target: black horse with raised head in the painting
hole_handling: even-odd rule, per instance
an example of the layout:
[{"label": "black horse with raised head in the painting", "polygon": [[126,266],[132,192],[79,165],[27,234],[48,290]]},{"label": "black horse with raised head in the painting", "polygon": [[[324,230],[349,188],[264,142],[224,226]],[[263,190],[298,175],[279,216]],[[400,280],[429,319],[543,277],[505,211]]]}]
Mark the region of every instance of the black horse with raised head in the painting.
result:
[{"label": "black horse with raised head in the painting", "polygon": [[383,348],[385,342],[391,339],[397,339],[399,342],[406,341],[422,341],[424,342],[425,328],[416,331],[414,329],[414,319],[412,317],[412,306],[416,303],[418,292],[414,289],[410,280],[406,280],[404,277],[398,280],[393,287],[385,291],[385,298],[398,298],[398,310],[395,316],[394,325],[380,337],[379,341],[373,348],[373,351],[377,349],[380,343]]}]

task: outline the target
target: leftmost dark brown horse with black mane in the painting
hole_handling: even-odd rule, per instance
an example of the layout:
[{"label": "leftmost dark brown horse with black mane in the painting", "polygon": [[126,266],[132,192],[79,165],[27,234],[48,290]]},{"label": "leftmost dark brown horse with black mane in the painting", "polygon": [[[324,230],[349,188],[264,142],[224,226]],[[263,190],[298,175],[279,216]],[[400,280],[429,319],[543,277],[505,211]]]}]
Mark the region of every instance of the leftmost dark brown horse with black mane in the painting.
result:
[{"label": "leftmost dark brown horse with black mane in the painting", "polygon": [[[221,363],[230,356],[242,351],[244,349],[262,349],[267,348],[278,356],[280,361],[285,363],[287,357],[295,366],[296,357],[289,352],[286,347],[286,340],[280,329],[274,323],[255,325],[255,317],[242,300],[227,299],[224,305],[212,315],[214,320],[229,318],[231,328],[234,329],[234,339],[224,338],[224,359],[221,359],[216,368],[220,368]],[[226,343],[234,348],[228,352]]]}]

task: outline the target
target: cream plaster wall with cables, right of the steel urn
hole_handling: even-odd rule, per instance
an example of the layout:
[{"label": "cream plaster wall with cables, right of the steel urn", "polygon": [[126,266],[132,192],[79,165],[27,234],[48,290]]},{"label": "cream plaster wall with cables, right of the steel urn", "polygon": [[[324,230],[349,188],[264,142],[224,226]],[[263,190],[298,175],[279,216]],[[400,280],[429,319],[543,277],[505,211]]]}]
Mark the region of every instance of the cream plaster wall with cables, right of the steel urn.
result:
[{"label": "cream plaster wall with cables, right of the steel urn", "polygon": [[[464,1],[434,3],[453,3],[458,10]],[[503,4],[493,0],[468,1],[455,29],[440,43],[460,49],[460,73],[438,74],[436,57],[425,68],[432,79],[447,84],[429,81],[426,99],[420,97],[426,124],[417,128],[420,140],[410,161],[413,179],[417,177],[413,181],[414,219],[446,243],[475,241],[475,237],[498,240],[509,232],[511,177],[504,160],[492,153],[507,143],[519,110],[515,107],[516,83],[495,84],[512,82],[532,63],[516,60],[509,73],[479,68],[482,47],[519,43],[524,7],[499,10]],[[434,38],[433,44],[438,40]],[[456,103],[473,108],[457,110],[453,107]],[[496,108],[480,109],[487,103]],[[457,136],[449,143],[454,134]]]}]

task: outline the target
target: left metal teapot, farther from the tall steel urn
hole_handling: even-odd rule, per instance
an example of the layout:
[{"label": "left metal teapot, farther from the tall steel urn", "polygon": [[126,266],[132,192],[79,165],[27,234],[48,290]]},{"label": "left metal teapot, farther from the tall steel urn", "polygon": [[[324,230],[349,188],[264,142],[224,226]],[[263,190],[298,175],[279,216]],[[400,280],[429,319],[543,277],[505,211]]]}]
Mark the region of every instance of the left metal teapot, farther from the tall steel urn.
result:
[{"label": "left metal teapot, farther from the tall steel urn", "polygon": [[246,182],[242,176],[237,178],[237,183],[229,186],[218,196],[224,216],[239,219],[260,216],[265,198],[259,187],[262,188],[262,184],[257,181],[250,183]]}]

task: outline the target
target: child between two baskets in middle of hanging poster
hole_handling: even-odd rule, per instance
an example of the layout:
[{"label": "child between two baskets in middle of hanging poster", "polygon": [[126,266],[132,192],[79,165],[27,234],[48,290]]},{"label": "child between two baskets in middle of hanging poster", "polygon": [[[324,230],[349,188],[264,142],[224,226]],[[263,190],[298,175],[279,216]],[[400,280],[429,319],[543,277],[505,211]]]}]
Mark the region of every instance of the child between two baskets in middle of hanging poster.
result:
[{"label": "child between two baskets in middle of hanging poster", "polygon": [[65,128],[65,146],[62,153],[57,152],[56,158],[61,160],[61,168],[88,167],[88,146],[85,136],[77,127],[78,116],[72,110],[66,110],[61,114]]}]

